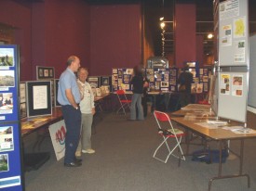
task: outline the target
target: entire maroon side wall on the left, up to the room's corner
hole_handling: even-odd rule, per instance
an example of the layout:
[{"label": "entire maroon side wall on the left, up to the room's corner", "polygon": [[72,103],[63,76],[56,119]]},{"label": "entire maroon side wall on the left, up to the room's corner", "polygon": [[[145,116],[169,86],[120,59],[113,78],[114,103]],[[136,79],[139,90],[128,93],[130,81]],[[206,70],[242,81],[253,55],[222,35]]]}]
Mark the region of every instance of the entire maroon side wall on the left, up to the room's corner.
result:
[{"label": "entire maroon side wall on the left, up to the room's corner", "polygon": [[[20,4],[1,0],[0,22],[15,30],[20,45],[20,81],[36,79],[36,66],[55,68],[59,78],[70,55],[89,63],[89,6],[84,0]],[[11,13],[11,14],[10,14]]]}]

